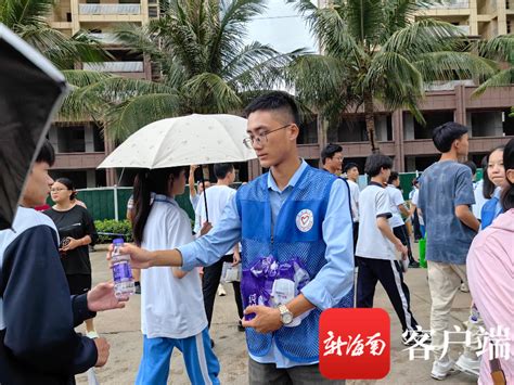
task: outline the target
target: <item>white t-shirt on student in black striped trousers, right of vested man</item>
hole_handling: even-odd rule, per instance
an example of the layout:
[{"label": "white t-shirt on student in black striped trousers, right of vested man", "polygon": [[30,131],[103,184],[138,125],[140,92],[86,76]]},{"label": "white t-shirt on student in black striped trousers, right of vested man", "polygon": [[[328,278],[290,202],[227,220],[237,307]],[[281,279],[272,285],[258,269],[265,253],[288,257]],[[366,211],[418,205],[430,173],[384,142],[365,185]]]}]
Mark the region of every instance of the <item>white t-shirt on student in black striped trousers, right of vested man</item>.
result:
[{"label": "white t-shirt on student in black striped trousers, right of vested man", "polygon": [[359,240],[356,255],[363,258],[395,260],[395,245],[376,226],[378,217],[390,218],[389,195],[378,183],[371,182],[360,192]]}]

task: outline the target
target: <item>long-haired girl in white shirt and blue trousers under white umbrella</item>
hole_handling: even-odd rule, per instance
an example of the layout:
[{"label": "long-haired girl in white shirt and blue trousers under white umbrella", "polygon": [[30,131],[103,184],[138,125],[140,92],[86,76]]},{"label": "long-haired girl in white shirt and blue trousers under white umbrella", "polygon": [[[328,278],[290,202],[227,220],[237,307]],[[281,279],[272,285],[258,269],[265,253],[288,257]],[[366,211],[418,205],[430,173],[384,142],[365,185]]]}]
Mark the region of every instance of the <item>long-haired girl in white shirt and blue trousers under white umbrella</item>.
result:
[{"label": "long-haired girl in white shirt and blue trousers under white umbrella", "polygon": [[[184,189],[183,167],[138,174],[132,217],[136,244],[156,251],[193,241],[190,219],[175,201]],[[207,223],[202,233],[208,228]],[[154,267],[141,274],[143,355],[136,384],[167,384],[174,348],[182,352],[191,383],[219,384],[220,367],[210,347],[198,271]]]}]

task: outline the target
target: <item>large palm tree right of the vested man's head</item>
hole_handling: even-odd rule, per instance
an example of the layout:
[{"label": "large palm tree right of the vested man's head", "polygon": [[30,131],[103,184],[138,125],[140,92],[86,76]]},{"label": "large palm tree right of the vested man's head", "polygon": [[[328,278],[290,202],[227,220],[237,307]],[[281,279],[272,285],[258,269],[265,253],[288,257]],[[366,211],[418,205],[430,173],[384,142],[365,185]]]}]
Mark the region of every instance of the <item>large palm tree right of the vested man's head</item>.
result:
[{"label": "large palm tree right of the vested man's head", "polygon": [[323,54],[298,57],[288,80],[298,97],[329,119],[363,107],[373,152],[376,103],[387,110],[408,108],[424,123],[417,104],[425,86],[435,80],[492,76],[493,61],[470,52],[458,27],[432,20],[414,21],[419,0],[331,0],[317,8],[297,4],[318,38]]}]

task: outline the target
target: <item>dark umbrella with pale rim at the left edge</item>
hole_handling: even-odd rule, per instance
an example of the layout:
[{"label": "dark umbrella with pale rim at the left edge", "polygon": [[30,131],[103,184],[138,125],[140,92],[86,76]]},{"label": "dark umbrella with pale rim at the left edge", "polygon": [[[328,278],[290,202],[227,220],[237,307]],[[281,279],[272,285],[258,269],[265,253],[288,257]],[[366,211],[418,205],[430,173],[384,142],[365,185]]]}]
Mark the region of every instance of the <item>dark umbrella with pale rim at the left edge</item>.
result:
[{"label": "dark umbrella with pale rim at the left edge", "polygon": [[65,91],[64,76],[0,24],[0,230],[11,227],[25,178]]}]

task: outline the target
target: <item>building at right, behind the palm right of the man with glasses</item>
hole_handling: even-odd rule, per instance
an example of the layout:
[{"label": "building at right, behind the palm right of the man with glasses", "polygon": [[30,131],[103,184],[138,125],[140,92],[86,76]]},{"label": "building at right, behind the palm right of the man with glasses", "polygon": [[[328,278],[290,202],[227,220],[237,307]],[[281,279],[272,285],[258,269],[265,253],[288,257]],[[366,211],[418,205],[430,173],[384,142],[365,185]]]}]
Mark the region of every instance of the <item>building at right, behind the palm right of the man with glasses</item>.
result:
[{"label": "building at right, behind the palm right of the man with glasses", "polygon": [[[324,4],[325,0],[319,0]],[[439,0],[416,15],[435,17],[454,24],[471,37],[485,39],[514,33],[514,0]],[[424,170],[438,158],[432,142],[435,127],[450,120],[470,129],[470,156],[477,165],[492,147],[514,137],[514,118],[509,117],[514,106],[514,87],[489,89],[479,98],[473,97],[476,85],[472,80],[429,85],[420,108],[426,125],[420,125],[408,111],[393,113],[377,106],[376,138],[381,151],[393,157],[398,171]],[[307,123],[300,136],[300,155],[318,165],[321,149],[326,142],[343,146],[345,162],[355,162],[361,172],[371,153],[362,111],[347,114],[337,126],[321,134],[316,123]],[[325,142],[319,138],[326,138]],[[249,175],[261,170],[250,165]]]}]

